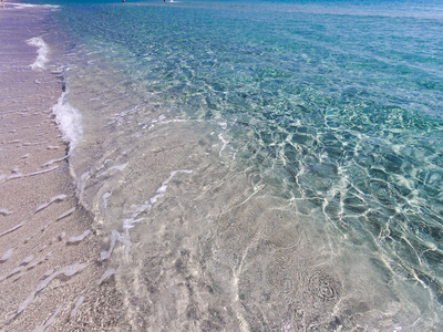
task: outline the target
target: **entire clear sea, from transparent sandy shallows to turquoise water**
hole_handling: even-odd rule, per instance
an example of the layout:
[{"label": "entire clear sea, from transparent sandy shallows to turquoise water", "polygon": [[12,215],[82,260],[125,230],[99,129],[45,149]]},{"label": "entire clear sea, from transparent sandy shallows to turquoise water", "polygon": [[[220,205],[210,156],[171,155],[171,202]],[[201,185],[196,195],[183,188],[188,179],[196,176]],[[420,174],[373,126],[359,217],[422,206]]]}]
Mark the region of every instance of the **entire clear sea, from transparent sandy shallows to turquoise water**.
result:
[{"label": "entire clear sea, from transparent sandy shallows to turquoise water", "polygon": [[34,2],[132,329],[443,330],[443,1]]}]

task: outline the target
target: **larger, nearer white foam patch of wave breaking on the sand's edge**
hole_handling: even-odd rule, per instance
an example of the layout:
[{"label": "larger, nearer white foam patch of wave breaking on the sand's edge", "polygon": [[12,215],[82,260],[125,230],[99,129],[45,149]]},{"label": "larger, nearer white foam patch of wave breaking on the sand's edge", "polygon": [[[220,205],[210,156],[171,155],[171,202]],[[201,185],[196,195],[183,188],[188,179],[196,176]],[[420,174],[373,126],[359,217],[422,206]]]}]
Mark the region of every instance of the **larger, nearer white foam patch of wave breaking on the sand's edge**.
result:
[{"label": "larger, nearer white foam patch of wave breaking on the sand's edge", "polygon": [[63,133],[63,139],[70,145],[70,154],[83,136],[82,115],[68,103],[68,90],[62,93],[58,103],[52,106],[55,121]]}]

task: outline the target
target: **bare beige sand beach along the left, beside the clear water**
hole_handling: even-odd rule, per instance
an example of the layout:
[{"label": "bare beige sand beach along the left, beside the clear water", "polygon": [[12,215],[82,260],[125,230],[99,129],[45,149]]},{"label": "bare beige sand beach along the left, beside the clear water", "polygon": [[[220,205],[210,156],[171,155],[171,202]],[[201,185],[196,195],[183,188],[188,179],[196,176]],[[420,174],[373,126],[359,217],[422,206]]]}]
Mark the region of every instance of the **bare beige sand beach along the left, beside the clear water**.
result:
[{"label": "bare beige sand beach along the left, beside the clear water", "polygon": [[[0,8],[0,330],[125,331],[102,240],[79,205],[51,107],[62,81],[31,69],[42,7]],[[52,160],[52,162],[51,162]],[[63,217],[64,216],[64,217]],[[35,330],[34,330],[35,329]]]}]

